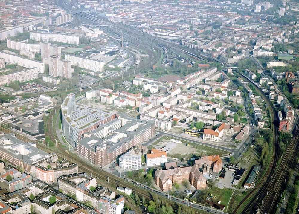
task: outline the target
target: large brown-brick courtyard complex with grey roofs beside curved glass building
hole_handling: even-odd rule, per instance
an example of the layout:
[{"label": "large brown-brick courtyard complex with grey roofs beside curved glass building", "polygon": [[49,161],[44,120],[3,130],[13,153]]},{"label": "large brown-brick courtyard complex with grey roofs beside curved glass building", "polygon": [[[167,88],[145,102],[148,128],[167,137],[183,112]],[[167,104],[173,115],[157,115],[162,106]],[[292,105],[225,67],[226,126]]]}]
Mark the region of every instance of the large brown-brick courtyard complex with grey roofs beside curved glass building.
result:
[{"label": "large brown-brick courtyard complex with grey roofs beside curved glass building", "polygon": [[118,121],[119,119],[116,121],[112,120],[108,124],[108,135],[103,133],[100,127],[98,130],[95,129],[84,134],[86,137],[76,143],[79,157],[103,167],[115,160],[119,155],[155,135],[155,125],[152,121],[144,122],[133,118],[122,118],[123,126],[121,127],[119,127]]}]

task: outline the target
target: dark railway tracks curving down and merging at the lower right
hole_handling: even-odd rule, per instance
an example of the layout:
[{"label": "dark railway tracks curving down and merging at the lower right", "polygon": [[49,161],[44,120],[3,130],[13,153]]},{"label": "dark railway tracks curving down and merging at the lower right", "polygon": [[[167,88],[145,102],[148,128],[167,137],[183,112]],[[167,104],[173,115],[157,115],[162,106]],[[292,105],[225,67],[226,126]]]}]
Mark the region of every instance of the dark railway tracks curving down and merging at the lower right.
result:
[{"label": "dark railway tracks curving down and merging at the lower right", "polygon": [[[248,81],[252,82],[245,75],[242,76],[245,77]],[[260,88],[258,88],[255,84],[254,87],[258,91],[260,91],[263,99],[270,107],[271,119],[273,121],[271,126],[273,134],[273,154],[271,158],[272,161],[261,181],[259,181],[259,183],[255,186],[254,190],[252,190],[248,195],[246,195],[246,197],[238,204],[233,213],[237,213],[239,209],[242,207],[242,205],[246,201],[250,200],[253,196],[254,198],[251,199],[251,201],[248,203],[248,205],[245,207],[242,213],[255,213],[257,208],[260,208],[261,213],[273,213],[276,210],[275,204],[277,203],[277,200],[280,197],[282,183],[285,181],[284,179],[288,172],[287,169],[289,168],[289,163],[290,161],[292,161],[292,158],[294,157],[293,154],[295,153],[296,148],[298,147],[299,127],[295,131],[295,137],[290,142],[289,147],[287,148],[287,151],[285,152],[285,155],[281,160],[280,166],[278,167],[278,169],[276,169],[279,154],[278,129],[275,124],[275,121],[278,119],[277,114],[274,110],[271,101],[268,99],[268,97],[266,97],[263,91]],[[256,195],[254,195],[256,191],[258,192]]]}]

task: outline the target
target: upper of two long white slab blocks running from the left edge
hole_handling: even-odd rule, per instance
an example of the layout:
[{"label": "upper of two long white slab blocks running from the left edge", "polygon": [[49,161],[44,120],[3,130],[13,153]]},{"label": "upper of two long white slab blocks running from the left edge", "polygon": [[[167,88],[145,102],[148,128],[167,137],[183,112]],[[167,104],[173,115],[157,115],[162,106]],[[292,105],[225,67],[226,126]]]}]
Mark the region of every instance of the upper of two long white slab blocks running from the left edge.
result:
[{"label": "upper of two long white slab blocks running from the left edge", "polygon": [[23,66],[25,68],[37,68],[39,73],[44,73],[45,71],[45,64],[43,62],[18,56],[16,53],[11,51],[0,51],[0,57],[4,58],[5,63],[17,63],[18,65]]}]

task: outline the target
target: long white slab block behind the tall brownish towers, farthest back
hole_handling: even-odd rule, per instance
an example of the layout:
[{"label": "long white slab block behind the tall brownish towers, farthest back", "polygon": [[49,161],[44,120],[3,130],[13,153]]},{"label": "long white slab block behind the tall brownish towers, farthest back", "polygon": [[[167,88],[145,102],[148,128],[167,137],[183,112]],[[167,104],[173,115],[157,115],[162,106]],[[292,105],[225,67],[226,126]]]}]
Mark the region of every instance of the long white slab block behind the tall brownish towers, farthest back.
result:
[{"label": "long white slab block behind the tall brownish towers, farthest back", "polygon": [[63,42],[79,45],[79,36],[60,33],[30,32],[30,39],[43,42]]}]

